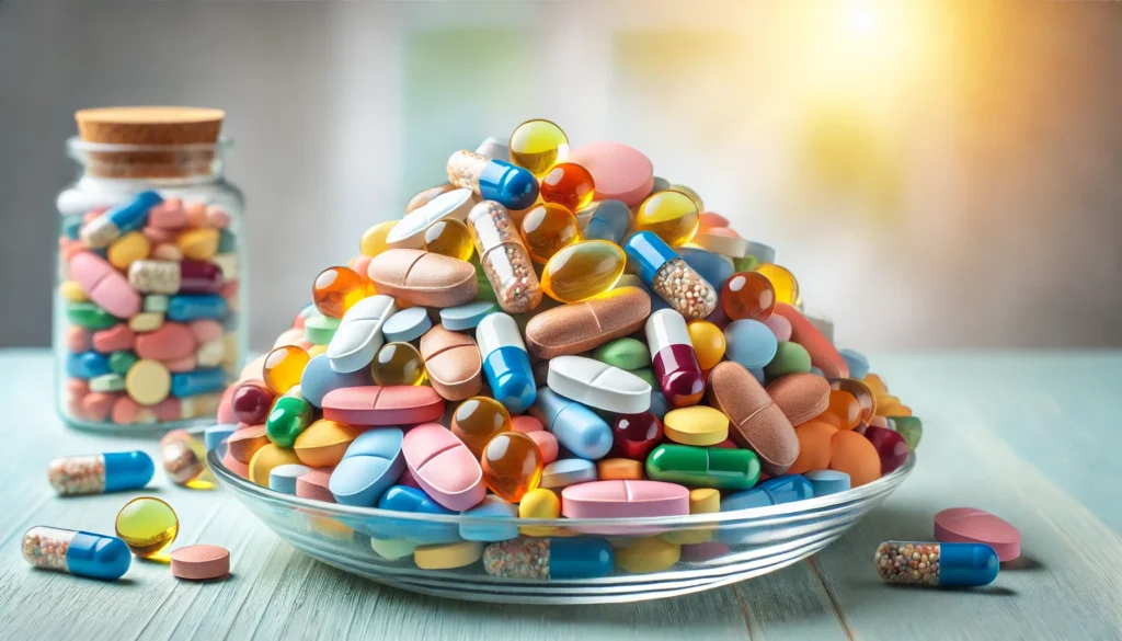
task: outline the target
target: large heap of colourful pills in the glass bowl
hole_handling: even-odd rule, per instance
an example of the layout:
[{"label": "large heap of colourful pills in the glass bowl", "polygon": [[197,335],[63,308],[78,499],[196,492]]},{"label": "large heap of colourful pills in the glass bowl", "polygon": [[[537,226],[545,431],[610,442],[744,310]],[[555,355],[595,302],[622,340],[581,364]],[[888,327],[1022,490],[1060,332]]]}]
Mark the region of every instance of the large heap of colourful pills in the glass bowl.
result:
[{"label": "large heap of colourful pills in the glass bowl", "polygon": [[[351,506],[628,520],[844,492],[919,443],[866,359],[803,314],[774,251],[637,149],[570,149],[531,120],[452,154],[447,177],[318,275],[226,392],[227,468]],[[739,542],[614,548],[619,528],[371,519],[361,534],[420,568],[522,578],[656,571]]]}]

